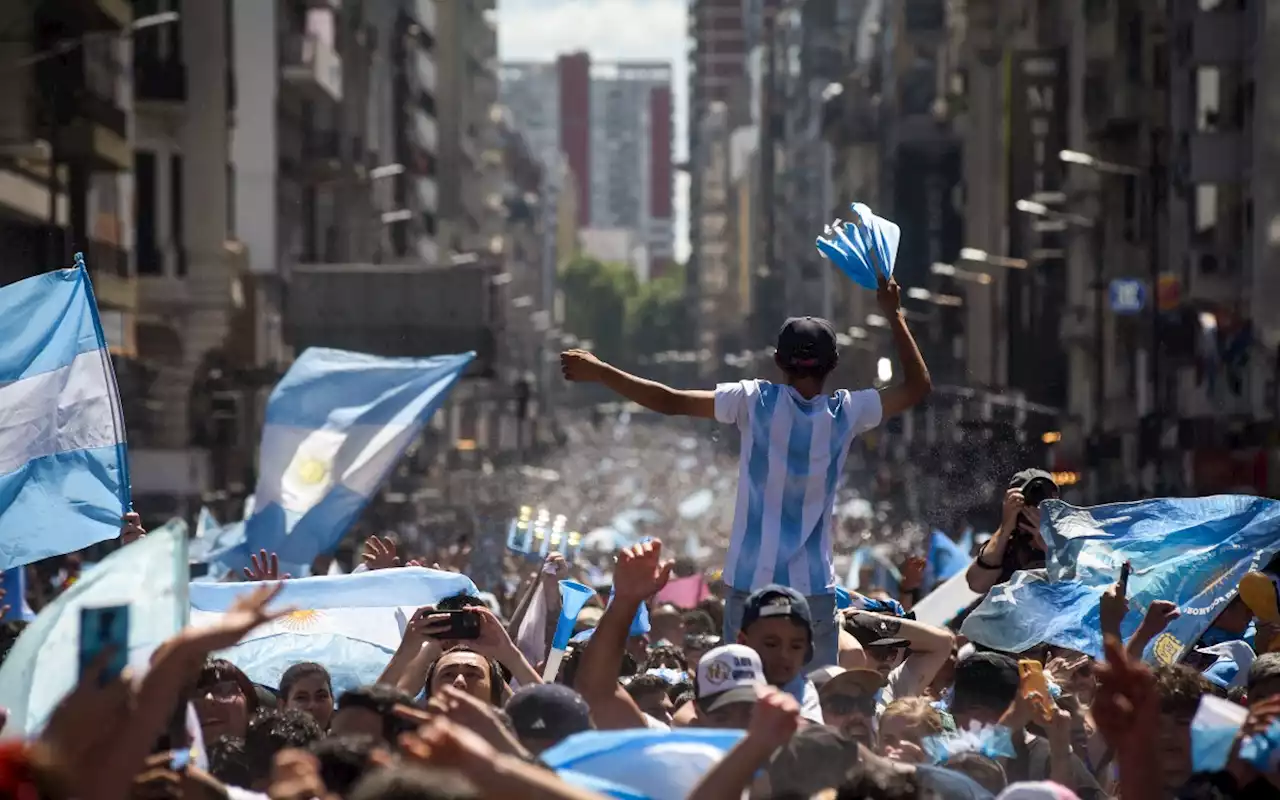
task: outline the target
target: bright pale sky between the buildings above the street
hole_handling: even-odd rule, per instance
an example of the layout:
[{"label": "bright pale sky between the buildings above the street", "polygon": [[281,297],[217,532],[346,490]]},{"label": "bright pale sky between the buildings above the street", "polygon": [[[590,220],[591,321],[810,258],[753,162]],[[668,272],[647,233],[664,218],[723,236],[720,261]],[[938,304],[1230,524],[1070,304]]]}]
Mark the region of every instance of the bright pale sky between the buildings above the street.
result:
[{"label": "bright pale sky between the buildings above the street", "polygon": [[[689,145],[687,0],[498,0],[498,51],[503,60],[552,61],[585,50],[600,60],[664,60],[676,70],[677,161]],[[689,180],[676,174],[676,259],[689,255]]]}]

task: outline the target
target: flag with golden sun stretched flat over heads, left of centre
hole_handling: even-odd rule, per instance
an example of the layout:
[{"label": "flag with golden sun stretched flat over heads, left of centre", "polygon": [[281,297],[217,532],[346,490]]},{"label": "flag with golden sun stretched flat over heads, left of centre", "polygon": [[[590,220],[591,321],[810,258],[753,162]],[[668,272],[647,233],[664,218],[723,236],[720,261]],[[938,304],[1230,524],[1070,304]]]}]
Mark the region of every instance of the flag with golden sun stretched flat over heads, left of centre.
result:
[{"label": "flag with golden sun stretched flat over heads, left of centre", "polygon": [[[191,623],[207,625],[253,589],[255,584],[192,584]],[[275,605],[297,611],[220,655],[255,684],[273,687],[292,664],[316,662],[329,669],[334,691],[342,692],[378,680],[399,646],[401,620],[456,594],[475,595],[476,586],[465,575],[424,567],[288,580]]]}]

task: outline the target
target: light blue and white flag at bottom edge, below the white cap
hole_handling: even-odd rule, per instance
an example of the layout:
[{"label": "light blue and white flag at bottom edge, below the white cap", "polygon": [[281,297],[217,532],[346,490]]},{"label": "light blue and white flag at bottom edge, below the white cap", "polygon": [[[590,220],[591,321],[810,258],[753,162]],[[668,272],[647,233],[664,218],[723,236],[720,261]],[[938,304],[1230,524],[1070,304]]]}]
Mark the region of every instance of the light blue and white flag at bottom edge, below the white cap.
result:
[{"label": "light blue and white flag at bottom edge, below the white cap", "polygon": [[[614,797],[687,797],[698,782],[742,739],[742,731],[588,731],[543,753],[543,762],[570,783],[609,787]],[[589,785],[603,781],[604,785]],[[632,794],[614,794],[625,790]]]}]

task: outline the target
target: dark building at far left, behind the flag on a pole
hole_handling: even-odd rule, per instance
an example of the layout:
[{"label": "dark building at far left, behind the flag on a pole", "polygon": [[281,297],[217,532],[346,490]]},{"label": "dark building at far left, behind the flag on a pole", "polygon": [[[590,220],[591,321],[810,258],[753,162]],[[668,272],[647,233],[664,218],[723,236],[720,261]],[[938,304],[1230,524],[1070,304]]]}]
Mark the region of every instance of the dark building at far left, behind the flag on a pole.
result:
[{"label": "dark building at far left, behind the flag on a pole", "polygon": [[[83,251],[102,324],[134,352],[125,0],[4,4],[0,26],[0,283],[70,266]],[[132,389],[129,375],[122,385]]]}]

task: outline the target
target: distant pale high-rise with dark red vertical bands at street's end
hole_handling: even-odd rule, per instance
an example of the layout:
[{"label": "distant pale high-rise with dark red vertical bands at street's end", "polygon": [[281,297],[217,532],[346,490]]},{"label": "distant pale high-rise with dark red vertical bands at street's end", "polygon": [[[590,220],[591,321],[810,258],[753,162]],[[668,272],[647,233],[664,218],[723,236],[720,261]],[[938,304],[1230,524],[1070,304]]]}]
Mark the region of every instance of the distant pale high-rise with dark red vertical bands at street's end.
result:
[{"label": "distant pale high-rise with dark red vertical bands at street's end", "polygon": [[649,273],[675,257],[669,64],[508,63],[503,105],[544,164],[563,156],[582,228],[627,230],[648,250]]}]

